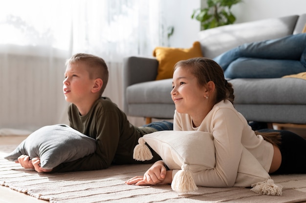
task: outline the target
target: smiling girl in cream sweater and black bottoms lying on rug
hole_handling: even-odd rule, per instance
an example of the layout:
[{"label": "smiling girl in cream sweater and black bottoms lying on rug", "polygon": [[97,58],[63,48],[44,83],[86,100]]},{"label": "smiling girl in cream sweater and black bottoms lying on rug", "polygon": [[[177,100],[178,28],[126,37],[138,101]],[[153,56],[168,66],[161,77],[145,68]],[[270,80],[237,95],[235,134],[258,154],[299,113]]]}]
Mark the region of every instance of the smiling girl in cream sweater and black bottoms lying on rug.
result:
[{"label": "smiling girl in cream sweater and black bottoms lying on rug", "polygon": [[[234,108],[232,84],[213,60],[194,58],[175,64],[172,100],[174,130],[198,130],[214,136],[216,166],[194,174],[196,183],[212,187],[233,186],[242,146],[269,173],[305,173],[306,140],[284,130],[253,131]],[[263,132],[264,131],[264,132]],[[144,174],[126,183],[136,185],[171,183],[174,171],[157,161]]]}]

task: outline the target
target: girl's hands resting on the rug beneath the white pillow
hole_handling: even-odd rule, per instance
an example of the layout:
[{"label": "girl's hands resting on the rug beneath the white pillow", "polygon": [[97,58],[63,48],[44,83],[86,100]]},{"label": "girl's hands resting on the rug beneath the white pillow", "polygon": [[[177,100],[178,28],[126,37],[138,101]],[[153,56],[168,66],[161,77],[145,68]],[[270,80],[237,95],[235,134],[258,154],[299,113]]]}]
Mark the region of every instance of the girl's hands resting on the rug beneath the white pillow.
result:
[{"label": "girl's hands resting on the rug beneath the white pillow", "polygon": [[172,171],[167,171],[164,162],[155,162],[144,174],[144,176],[135,176],[126,181],[127,184],[135,185],[155,185],[167,184],[172,182]]}]

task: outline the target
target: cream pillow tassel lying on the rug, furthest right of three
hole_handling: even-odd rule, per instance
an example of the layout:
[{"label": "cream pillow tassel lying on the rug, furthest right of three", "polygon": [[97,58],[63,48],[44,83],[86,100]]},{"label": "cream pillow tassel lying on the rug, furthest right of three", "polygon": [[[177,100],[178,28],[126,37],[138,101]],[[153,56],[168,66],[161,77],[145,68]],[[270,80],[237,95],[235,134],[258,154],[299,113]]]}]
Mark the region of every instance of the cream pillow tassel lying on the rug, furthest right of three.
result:
[{"label": "cream pillow tassel lying on the rug, furthest right of three", "polygon": [[277,185],[272,179],[265,182],[254,183],[251,191],[262,195],[282,195],[282,185]]}]

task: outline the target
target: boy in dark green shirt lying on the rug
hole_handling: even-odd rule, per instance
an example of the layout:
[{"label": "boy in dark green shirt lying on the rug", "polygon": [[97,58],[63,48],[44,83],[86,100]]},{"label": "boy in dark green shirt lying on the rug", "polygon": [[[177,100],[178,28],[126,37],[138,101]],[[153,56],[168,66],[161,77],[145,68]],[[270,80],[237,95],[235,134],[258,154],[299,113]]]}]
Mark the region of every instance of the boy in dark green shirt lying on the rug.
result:
[{"label": "boy in dark green shirt lying on the rug", "polygon": [[[76,161],[61,163],[52,170],[41,168],[39,158],[30,160],[22,155],[18,161],[23,167],[34,168],[38,172],[67,172],[137,163],[132,154],[140,137],[158,130],[173,130],[173,123],[165,121],[144,127],[131,125],[115,103],[102,97],[108,79],[108,67],[100,57],[81,53],[66,61],[63,91],[66,101],[71,103],[68,108],[70,126],[95,139],[96,151]],[[153,156],[152,163],[160,159],[154,152]]]}]

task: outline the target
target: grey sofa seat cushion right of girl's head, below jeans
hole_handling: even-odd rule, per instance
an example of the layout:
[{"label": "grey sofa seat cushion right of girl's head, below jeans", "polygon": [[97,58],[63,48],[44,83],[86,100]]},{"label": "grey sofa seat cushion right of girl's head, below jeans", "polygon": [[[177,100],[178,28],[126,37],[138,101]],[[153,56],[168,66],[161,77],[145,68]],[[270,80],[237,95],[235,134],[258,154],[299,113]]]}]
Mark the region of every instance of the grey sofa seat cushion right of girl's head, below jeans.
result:
[{"label": "grey sofa seat cushion right of girl's head, below jeans", "polygon": [[234,104],[305,104],[306,80],[297,78],[233,79]]}]

